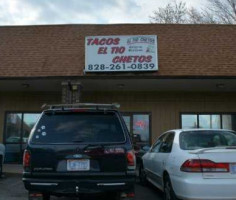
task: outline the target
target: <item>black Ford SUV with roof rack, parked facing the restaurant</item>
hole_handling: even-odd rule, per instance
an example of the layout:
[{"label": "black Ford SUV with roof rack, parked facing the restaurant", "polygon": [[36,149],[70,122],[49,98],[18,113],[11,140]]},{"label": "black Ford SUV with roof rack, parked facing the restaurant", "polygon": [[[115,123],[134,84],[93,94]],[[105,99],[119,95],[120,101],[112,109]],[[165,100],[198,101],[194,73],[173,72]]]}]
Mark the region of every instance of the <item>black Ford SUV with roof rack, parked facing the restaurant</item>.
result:
[{"label": "black Ford SUV with roof rack, parked facing the restaurant", "polygon": [[31,132],[23,163],[29,199],[102,193],[134,199],[135,155],[115,104],[50,106]]}]

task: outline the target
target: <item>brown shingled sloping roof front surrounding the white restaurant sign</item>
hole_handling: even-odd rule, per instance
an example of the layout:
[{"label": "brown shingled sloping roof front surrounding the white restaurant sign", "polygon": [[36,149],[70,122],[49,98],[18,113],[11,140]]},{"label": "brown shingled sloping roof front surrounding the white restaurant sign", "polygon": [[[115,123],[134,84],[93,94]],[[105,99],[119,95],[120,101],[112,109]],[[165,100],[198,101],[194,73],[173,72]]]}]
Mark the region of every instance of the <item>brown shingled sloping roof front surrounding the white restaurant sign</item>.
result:
[{"label": "brown shingled sloping roof front surrounding the white restaurant sign", "polygon": [[115,76],[236,76],[235,25],[129,24],[0,27],[0,78],[85,76],[85,36],[142,34],[158,36],[159,71]]}]

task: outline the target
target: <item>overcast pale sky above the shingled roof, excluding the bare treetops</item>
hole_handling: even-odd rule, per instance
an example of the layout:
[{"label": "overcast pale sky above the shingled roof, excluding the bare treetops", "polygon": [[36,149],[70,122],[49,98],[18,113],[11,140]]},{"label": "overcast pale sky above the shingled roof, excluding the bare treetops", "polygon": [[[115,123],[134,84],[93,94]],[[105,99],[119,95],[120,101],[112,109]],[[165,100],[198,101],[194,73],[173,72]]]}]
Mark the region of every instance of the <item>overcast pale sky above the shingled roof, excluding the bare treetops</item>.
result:
[{"label": "overcast pale sky above the shingled roof, excluding the bare treetops", "polygon": [[[0,0],[0,25],[149,23],[171,0]],[[200,8],[206,0],[185,0]]]}]

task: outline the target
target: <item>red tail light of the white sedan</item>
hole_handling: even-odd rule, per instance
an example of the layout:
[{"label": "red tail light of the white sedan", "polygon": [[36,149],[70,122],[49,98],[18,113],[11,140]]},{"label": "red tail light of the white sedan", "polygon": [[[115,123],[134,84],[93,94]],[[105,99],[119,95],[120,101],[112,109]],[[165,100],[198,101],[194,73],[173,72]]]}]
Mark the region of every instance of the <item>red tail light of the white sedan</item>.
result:
[{"label": "red tail light of the white sedan", "polygon": [[180,168],[183,172],[229,172],[229,163],[215,163],[206,159],[190,159]]}]

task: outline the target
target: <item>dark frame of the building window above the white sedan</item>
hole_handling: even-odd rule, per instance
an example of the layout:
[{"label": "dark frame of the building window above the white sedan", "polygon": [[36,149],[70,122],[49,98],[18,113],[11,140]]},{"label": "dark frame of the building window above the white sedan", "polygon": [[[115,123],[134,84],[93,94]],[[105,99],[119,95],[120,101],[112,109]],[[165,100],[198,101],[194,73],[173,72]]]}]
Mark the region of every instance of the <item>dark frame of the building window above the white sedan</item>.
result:
[{"label": "dark frame of the building window above the white sedan", "polygon": [[182,127],[182,115],[197,115],[197,128],[199,128],[199,115],[220,115],[220,129],[223,129],[223,115],[236,115],[236,112],[180,112],[179,127]]}]

